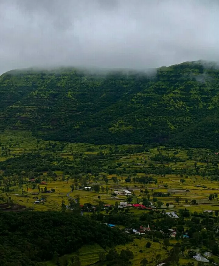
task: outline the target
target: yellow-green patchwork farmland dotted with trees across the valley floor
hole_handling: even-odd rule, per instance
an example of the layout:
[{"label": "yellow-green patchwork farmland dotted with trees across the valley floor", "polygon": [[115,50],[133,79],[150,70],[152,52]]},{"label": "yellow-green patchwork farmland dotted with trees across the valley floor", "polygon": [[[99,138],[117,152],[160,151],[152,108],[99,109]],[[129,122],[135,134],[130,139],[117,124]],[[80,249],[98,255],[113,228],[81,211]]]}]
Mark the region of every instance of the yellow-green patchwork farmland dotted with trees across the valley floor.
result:
[{"label": "yellow-green patchwork farmland dotted with trees across the valley floor", "polygon": [[[13,205],[17,204],[33,211],[61,211],[63,206],[69,205],[70,199],[79,199],[81,205],[115,206],[124,201],[142,204],[145,198],[148,206],[160,213],[179,214],[180,209],[187,209],[191,213],[213,211],[215,216],[214,212],[219,210],[219,182],[215,174],[218,157],[213,150],[52,142],[36,139],[28,131],[25,135],[19,131],[4,131],[0,143],[1,202],[8,203],[3,210],[10,210],[10,206],[13,210]],[[144,177],[152,181],[142,180]],[[31,179],[33,182],[29,181]],[[84,189],[85,186],[92,189]],[[46,193],[45,189],[53,192]],[[132,195],[113,195],[114,191],[123,189],[128,189]],[[40,203],[35,203],[36,198]],[[134,207],[127,209],[134,219],[149,212]],[[92,216],[93,212],[84,212],[84,215]],[[125,228],[117,226],[121,230]],[[161,255],[159,262],[169,256],[170,247],[163,250],[162,242],[152,242],[150,248],[145,248],[147,242],[145,237],[135,238],[133,243],[117,246],[116,250],[130,248],[134,265],[140,265],[143,258],[151,261],[151,257]],[[174,243],[176,240],[170,239],[170,244],[174,246]],[[100,251],[98,246],[82,247],[77,253],[81,265],[96,263]],[[189,259],[181,257],[179,261],[183,264]],[[152,259],[151,265],[155,262]],[[45,265],[56,264],[51,261]]]}]

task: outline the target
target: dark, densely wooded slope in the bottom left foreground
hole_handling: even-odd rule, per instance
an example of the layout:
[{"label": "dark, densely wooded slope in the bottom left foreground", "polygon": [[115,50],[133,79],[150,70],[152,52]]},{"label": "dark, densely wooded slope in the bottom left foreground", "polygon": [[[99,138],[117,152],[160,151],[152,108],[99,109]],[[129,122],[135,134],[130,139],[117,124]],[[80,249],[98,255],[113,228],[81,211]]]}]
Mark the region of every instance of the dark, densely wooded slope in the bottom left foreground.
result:
[{"label": "dark, densely wooded slope in the bottom left foreground", "polygon": [[2,212],[0,215],[2,266],[43,266],[40,262],[52,260],[55,254],[76,252],[86,244],[97,243],[106,248],[130,240],[119,229],[111,230],[71,212]]}]

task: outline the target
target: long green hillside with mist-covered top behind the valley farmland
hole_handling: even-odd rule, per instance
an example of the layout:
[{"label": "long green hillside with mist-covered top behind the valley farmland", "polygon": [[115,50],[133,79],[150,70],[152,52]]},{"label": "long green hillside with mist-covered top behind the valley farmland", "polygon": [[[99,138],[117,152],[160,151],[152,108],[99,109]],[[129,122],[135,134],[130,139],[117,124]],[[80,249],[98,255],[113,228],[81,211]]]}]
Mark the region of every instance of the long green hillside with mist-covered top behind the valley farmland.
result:
[{"label": "long green hillside with mist-covered top behind the valley farmland", "polygon": [[219,70],[202,62],[95,74],[73,68],[0,77],[0,130],[94,144],[219,146]]}]

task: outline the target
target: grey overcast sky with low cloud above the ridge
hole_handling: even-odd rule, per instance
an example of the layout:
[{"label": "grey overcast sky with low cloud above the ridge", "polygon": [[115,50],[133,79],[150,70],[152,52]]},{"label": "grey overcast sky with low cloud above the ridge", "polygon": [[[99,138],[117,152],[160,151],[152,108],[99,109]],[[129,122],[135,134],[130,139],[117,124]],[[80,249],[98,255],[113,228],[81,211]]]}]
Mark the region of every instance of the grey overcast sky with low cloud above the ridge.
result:
[{"label": "grey overcast sky with low cloud above the ridge", "polygon": [[219,61],[218,0],[0,0],[0,74]]}]

